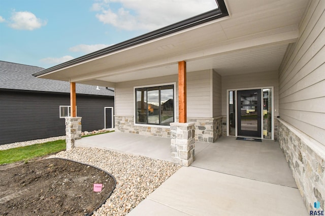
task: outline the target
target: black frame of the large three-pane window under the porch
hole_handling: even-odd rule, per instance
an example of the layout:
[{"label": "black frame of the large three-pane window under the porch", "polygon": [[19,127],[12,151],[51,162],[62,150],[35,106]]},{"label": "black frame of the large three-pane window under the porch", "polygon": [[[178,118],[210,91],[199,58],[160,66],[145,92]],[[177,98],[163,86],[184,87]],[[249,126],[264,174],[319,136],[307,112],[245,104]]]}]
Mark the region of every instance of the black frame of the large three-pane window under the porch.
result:
[{"label": "black frame of the large three-pane window under the porch", "polygon": [[[164,124],[164,123],[161,123],[161,89],[162,88],[166,88],[166,87],[172,87],[172,91],[173,91],[173,121],[172,122],[175,122],[175,84],[167,84],[167,85],[157,85],[157,86],[150,86],[150,87],[139,87],[139,88],[135,88],[135,111],[136,111],[136,115],[135,115],[135,123],[136,124],[144,124],[144,125],[161,125],[161,126],[169,126],[169,123],[167,124]],[[150,91],[150,89],[157,89],[158,88],[158,91],[159,91],[159,112],[158,112],[158,115],[159,115],[159,123],[148,123],[148,91]],[[146,122],[138,122],[138,101],[137,101],[137,91],[139,90],[145,90],[146,92]]]}]

